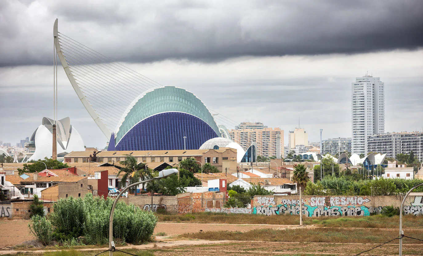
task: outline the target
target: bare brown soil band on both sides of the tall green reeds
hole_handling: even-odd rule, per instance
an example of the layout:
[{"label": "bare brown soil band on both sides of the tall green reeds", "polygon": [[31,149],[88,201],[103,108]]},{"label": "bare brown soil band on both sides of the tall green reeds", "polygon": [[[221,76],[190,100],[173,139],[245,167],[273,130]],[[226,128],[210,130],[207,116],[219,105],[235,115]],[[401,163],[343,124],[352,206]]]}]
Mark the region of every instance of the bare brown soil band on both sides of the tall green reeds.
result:
[{"label": "bare brown soil band on both sides of the tall green reeds", "polygon": [[[19,245],[26,240],[33,240],[29,234],[27,220],[0,221],[0,248]],[[215,224],[215,223],[157,223],[154,234],[164,232],[166,236],[203,231],[247,231],[251,229],[283,229],[293,225],[259,224]]]}]

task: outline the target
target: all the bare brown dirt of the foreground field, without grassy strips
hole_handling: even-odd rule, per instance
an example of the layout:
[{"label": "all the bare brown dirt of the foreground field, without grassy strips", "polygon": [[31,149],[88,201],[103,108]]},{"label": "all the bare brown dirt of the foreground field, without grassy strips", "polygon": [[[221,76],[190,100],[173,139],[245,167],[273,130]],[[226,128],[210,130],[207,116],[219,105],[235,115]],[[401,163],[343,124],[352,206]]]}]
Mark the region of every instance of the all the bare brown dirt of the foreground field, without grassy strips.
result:
[{"label": "all the bare brown dirt of the foreground field, without grassy strips", "polygon": [[[0,248],[5,246],[18,245],[25,240],[32,240],[33,237],[28,234],[28,221],[0,221]],[[157,223],[154,234],[165,232],[167,236],[183,234],[187,232],[203,231],[247,231],[251,229],[284,229],[297,228],[292,225],[258,225],[258,224],[203,224],[203,223]],[[135,245],[118,248],[122,251],[135,253],[140,250],[151,250],[156,256],[175,255],[175,256],[228,256],[228,255],[313,255],[313,256],[332,256],[332,255],[354,255],[360,251],[365,251],[375,247],[377,244],[368,243],[324,243],[324,242],[256,242],[256,241],[208,241],[192,240],[173,237],[156,237],[154,243],[146,245]],[[83,251],[86,256],[91,256],[99,252],[95,248],[78,249]],[[102,249],[104,250],[104,249]],[[2,254],[17,253],[16,256],[40,255],[45,251],[0,251]],[[29,254],[28,254],[29,253]],[[404,244],[403,253],[407,256],[423,255],[423,244]],[[102,256],[107,255],[104,253]],[[124,256],[123,253],[114,253],[115,256]],[[384,245],[375,250],[365,253],[365,255],[398,255],[398,242]]]}]

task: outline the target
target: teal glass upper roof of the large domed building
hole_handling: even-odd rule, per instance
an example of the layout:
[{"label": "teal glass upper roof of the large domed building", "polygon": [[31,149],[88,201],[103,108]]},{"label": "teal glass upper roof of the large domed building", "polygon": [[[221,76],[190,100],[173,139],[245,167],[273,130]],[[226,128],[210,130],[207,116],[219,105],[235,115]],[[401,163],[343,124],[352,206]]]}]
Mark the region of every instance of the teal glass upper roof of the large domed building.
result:
[{"label": "teal glass upper roof of the large domed building", "polygon": [[214,118],[200,99],[182,88],[163,86],[147,90],[132,101],[116,128],[116,144],[142,120],[166,112],[191,114],[203,120],[220,135]]}]

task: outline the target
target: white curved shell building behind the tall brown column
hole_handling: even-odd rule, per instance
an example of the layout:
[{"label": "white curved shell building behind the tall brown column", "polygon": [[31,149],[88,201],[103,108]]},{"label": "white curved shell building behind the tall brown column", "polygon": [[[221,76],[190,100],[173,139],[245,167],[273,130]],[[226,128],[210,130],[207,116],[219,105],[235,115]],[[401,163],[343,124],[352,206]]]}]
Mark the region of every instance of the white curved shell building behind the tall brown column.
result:
[{"label": "white curved shell building behind the tall brown column", "polygon": [[[35,144],[35,152],[28,159],[38,160],[45,157],[52,157],[53,147],[53,120],[47,117],[43,118],[43,122],[35,130],[30,141]],[[84,142],[78,131],[70,124],[69,117],[65,117],[57,121],[57,153],[71,153],[72,151],[84,151]]]}]

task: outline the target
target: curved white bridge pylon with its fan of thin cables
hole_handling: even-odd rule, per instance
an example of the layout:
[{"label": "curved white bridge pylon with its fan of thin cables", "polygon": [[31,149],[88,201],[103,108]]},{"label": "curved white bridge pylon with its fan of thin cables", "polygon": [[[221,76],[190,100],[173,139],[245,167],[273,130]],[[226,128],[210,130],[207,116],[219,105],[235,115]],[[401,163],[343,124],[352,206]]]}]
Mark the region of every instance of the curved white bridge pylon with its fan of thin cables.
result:
[{"label": "curved white bridge pylon with its fan of thin cables", "polygon": [[53,37],[69,82],[107,139],[133,99],[162,86],[58,32],[58,19],[54,22]]}]

